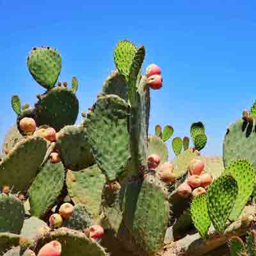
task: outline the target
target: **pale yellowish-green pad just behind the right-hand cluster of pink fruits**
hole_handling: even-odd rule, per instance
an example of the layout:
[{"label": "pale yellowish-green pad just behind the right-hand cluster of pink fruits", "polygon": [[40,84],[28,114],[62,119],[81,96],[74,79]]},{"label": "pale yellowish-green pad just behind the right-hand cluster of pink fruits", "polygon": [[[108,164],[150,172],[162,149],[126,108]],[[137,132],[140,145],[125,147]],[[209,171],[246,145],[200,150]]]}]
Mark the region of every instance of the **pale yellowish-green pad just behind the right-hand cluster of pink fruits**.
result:
[{"label": "pale yellowish-green pad just behind the right-hand cluster of pink fruits", "polygon": [[191,148],[182,152],[173,159],[172,163],[174,164],[173,173],[179,179],[184,174],[188,172],[189,163],[192,159],[196,158],[198,155],[196,152],[193,152]]}]

